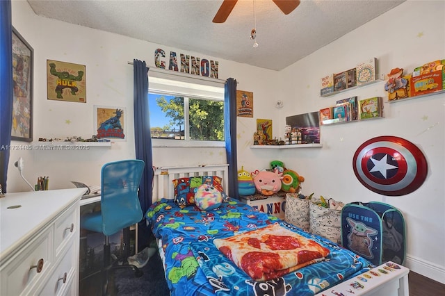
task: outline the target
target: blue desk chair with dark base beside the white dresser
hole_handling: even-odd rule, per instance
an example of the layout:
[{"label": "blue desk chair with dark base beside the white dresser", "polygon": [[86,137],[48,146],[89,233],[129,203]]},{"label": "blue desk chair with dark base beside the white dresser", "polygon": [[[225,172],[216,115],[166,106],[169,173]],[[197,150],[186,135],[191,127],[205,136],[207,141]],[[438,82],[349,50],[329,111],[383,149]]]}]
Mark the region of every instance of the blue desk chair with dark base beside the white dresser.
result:
[{"label": "blue desk chair with dark base beside the white dresser", "polygon": [[[103,294],[108,288],[108,270],[111,268],[132,268],[136,277],[143,274],[135,265],[128,264],[127,256],[122,258],[122,265],[117,265],[116,261],[111,262],[109,236],[140,222],[143,218],[138,188],[144,165],[145,163],[139,160],[106,163],[101,172],[101,211],[81,217],[83,229],[105,235],[104,268],[99,271],[102,273]],[[123,248],[127,247],[123,246]]]}]

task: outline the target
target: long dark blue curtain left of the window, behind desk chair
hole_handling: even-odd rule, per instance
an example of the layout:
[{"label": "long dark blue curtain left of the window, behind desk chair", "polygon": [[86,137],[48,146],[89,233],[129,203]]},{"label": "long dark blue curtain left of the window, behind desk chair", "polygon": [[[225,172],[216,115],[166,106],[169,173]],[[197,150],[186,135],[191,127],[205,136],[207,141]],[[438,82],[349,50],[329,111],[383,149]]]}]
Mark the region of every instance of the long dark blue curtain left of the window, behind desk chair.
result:
[{"label": "long dark blue curtain left of the window, behind desk chair", "polygon": [[[136,159],[145,162],[144,172],[139,186],[140,206],[145,213],[152,204],[153,161],[152,135],[148,110],[148,67],[140,60],[133,60],[133,95],[134,95],[134,144]],[[138,224],[138,250],[149,243],[151,233],[145,222]]]}]

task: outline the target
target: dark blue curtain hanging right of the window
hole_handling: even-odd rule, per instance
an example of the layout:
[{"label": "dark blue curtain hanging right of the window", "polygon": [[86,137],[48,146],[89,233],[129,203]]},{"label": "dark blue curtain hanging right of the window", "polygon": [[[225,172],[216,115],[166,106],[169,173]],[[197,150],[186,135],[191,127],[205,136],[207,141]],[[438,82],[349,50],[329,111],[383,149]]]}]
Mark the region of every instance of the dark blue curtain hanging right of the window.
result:
[{"label": "dark blue curtain hanging right of the window", "polygon": [[238,163],[236,155],[236,80],[227,79],[224,85],[224,138],[227,163],[229,164],[229,188],[227,195],[239,199]]}]

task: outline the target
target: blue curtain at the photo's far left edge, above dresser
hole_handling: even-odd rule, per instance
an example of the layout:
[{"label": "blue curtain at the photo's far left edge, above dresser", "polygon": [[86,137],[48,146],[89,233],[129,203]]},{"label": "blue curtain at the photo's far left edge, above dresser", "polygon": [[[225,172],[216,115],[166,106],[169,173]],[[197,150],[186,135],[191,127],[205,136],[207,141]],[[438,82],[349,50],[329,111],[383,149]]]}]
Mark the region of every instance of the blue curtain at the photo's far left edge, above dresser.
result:
[{"label": "blue curtain at the photo's far left edge, above dresser", "polygon": [[13,25],[11,1],[0,1],[0,184],[6,193],[13,122]]}]

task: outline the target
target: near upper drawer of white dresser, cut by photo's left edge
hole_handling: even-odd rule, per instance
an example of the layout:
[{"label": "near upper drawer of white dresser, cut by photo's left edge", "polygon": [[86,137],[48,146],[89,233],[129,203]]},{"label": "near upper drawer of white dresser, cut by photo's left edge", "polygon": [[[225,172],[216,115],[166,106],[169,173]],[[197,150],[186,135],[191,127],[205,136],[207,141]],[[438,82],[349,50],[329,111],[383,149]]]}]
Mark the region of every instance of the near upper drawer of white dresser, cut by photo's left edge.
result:
[{"label": "near upper drawer of white dresser, cut by photo's left edge", "polygon": [[35,284],[47,277],[54,262],[53,226],[38,233],[21,251],[1,269],[0,295],[29,295]]}]

